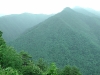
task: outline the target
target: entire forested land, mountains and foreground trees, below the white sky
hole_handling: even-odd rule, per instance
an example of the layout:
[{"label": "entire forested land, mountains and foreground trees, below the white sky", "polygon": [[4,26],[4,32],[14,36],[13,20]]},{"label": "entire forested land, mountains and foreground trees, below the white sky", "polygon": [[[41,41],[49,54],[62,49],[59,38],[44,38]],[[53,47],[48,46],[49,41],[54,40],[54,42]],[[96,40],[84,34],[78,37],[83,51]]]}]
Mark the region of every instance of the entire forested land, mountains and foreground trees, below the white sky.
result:
[{"label": "entire forested land, mountains and foreground trees, below the white sky", "polygon": [[99,11],[0,17],[0,75],[100,75],[99,58]]}]

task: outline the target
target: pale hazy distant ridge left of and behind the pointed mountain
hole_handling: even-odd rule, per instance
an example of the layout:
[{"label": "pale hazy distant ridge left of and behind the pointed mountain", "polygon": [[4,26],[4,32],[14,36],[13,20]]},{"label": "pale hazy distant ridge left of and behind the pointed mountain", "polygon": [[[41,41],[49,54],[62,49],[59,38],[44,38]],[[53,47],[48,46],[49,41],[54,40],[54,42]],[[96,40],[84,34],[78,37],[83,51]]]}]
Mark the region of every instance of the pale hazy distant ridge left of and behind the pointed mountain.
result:
[{"label": "pale hazy distant ridge left of and behind the pointed mountain", "polygon": [[0,30],[6,42],[16,39],[26,29],[39,24],[51,15],[45,14],[13,14],[0,17]]}]

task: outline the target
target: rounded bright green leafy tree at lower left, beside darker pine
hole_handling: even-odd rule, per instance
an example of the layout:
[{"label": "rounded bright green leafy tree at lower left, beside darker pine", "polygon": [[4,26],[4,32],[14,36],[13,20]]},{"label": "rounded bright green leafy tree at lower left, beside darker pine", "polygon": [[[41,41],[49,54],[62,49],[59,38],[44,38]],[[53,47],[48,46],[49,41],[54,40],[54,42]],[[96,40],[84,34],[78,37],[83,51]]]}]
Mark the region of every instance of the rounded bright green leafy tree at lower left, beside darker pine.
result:
[{"label": "rounded bright green leafy tree at lower left, beside darker pine", "polygon": [[6,47],[5,50],[2,51],[2,59],[1,59],[1,67],[12,67],[16,69],[20,69],[22,66],[22,59],[20,55],[12,48]]}]

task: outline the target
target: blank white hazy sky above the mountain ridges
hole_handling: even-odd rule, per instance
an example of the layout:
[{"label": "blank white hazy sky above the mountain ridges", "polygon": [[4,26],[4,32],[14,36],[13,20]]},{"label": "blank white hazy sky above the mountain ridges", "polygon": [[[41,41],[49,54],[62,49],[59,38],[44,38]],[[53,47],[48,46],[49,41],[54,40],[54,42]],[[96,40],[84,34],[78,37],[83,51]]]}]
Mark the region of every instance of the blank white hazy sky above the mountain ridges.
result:
[{"label": "blank white hazy sky above the mountain ridges", "polygon": [[0,0],[0,14],[23,12],[51,14],[65,7],[74,6],[100,10],[100,0]]}]

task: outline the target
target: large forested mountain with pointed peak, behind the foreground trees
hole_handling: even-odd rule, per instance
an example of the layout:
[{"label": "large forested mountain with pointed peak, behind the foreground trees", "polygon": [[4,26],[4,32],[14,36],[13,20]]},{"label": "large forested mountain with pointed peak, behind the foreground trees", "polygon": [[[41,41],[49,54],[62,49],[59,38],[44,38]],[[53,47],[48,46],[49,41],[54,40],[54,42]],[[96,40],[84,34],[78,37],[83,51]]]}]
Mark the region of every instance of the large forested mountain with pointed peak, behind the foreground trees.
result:
[{"label": "large forested mountain with pointed peak, behind the foreground trees", "polygon": [[32,27],[10,43],[34,59],[44,58],[59,67],[79,67],[83,75],[100,74],[100,18],[65,8]]}]

